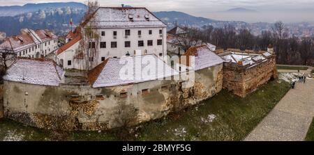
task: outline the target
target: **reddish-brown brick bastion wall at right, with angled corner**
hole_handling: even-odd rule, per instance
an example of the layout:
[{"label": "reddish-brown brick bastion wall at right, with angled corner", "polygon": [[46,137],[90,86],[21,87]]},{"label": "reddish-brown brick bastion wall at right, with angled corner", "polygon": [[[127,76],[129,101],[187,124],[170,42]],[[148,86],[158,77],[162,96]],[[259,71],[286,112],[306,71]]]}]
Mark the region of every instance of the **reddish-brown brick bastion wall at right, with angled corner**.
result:
[{"label": "reddish-brown brick bastion wall at right, with angled corner", "polygon": [[271,78],[278,77],[276,56],[266,62],[251,67],[239,67],[235,63],[225,63],[223,67],[223,88],[240,97],[245,97]]}]

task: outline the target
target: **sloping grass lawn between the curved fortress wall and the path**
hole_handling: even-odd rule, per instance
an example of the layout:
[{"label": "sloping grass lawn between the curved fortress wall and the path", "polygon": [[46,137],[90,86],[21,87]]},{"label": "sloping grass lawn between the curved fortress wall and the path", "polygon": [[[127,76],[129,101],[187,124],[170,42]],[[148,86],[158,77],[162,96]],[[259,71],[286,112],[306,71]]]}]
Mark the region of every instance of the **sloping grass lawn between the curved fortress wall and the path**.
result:
[{"label": "sloping grass lawn between the curved fortress wall and the path", "polygon": [[180,113],[128,130],[45,131],[9,120],[0,121],[0,140],[243,140],[271,111],[288,83],[270,81],[242,99],[223,90]]}]

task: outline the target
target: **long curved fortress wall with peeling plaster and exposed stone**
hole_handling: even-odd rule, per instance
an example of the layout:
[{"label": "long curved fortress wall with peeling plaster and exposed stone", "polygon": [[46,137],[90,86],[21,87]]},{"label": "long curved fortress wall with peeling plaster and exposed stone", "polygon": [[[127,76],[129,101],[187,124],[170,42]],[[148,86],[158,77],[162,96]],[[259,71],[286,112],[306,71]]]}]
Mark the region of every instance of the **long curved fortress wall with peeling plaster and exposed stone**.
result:
[{"label": "long curved fortress wall with peeling plaster and exposed stone", "polygon": [[33,127],[104,130],[180,111],[222,89],[223,64],[195,72],[193,88],[163,80],[108,88],[31,85],[4,81],[4,114]]}]

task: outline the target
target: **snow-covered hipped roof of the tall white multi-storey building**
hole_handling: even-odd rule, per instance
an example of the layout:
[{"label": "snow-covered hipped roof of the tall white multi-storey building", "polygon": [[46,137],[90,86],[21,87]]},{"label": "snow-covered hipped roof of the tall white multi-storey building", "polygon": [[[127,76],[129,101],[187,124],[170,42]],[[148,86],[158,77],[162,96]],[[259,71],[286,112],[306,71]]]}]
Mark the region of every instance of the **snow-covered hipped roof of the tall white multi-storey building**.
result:
[{"label": "snow-covered hipped roof of the tall white multi-storey building", "polygon": [[102,28],[112,27],[166,27],[160,19],[147,8],[111,8],[100,7],[96,10],[92,26]]}]

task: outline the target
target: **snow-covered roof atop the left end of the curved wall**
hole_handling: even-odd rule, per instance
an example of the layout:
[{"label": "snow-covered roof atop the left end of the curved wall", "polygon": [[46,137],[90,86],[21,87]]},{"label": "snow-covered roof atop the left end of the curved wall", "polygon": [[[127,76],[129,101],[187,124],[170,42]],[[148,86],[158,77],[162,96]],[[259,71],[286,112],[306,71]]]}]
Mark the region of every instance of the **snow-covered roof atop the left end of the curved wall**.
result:
[{"label": "snow-covered roof atop the left end of the curved wall", "polygon": [[17,58],[15,63],[8,68],[3,79],[35,85],[57,86],[61,83],[64,74],[61,67],[52,60]]}]

